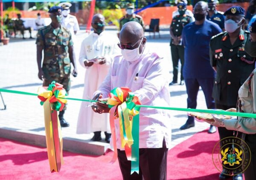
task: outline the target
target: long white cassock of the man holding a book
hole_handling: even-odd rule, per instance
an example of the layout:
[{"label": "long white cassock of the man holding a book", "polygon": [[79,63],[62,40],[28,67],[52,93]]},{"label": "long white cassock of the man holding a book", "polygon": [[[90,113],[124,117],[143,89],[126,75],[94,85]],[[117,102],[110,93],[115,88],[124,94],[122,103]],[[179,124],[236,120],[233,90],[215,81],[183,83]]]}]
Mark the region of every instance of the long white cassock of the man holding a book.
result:
[{"label": "long white cassock of the man holding a book", "polygon": [[[119,54],[117,46],[119,40],[116,36],[103,31],[99,35],[91,33],[81,44],[79,63],[86,68],[84,78],[83,99],[92,99],[93,93],[99,89],[100,84],[108,74],[114,54]],[[93,64],[85,67],[84,61],[103,56],[106,58],[105,64]],[[95,113],[91,107],[84,107],[89,102],[82,102],[77,122],[77,134],[88,134],[95,131],[107,131],[111,133],[109,125],[109,113]]]}]

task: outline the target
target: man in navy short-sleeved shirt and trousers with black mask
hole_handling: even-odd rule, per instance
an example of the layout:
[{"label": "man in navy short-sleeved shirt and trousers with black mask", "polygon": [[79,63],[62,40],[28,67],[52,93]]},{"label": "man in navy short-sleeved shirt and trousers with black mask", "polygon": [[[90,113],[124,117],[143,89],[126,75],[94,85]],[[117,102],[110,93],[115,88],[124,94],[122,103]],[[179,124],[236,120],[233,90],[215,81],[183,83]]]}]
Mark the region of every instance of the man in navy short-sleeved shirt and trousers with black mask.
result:
[{"label": "man in navy short-sleeved shirt and trousers with black mask", "polygon": [[[212,36],[222,32],[218,24],[206,19],[208,5],[199,1],[193,10],[195,22],[187,24],[183,28],[182,39],[185,46],[185,62],[183,76],[188,94],[187,107],[196,108],[197,94],[201,86],[208,109],[214,109],[212,87],[215,72],[211,67],[209,58],[209,42]],[[188,129],[195,126],[194,117],[189,116],[186,123],[180,129]],[[216,132],[211,126],[209,133]]]}]

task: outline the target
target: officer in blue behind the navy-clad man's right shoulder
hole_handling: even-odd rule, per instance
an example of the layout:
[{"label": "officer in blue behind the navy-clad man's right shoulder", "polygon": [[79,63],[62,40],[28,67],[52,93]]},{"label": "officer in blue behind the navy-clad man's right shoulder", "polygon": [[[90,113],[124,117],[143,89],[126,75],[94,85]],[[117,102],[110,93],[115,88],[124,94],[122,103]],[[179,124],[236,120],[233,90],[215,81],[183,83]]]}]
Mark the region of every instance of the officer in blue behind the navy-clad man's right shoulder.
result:
[{"label": "officer in blue behind the navy-clad man's right shoulder", "polygon": [[220,28],[225,31],[224,29],[224,21],[225,21],[225,16],[223,15],[224,12],[217,11],[216,10],[216,5],[217,5],[217,0],[208,0],[208,8],[209,12],[207,15],[207,19],[218,24]]}]

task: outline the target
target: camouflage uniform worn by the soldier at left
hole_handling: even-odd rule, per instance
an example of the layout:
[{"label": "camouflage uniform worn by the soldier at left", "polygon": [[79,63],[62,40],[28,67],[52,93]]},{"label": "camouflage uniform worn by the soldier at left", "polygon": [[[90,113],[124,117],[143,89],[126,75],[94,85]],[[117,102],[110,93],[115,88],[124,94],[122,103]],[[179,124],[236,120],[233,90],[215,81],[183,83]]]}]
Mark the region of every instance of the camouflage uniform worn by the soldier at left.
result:
[{"label": "camouflage uniform worn by the soldier at left", "polygon": [[36,44],[44,47],[43,86],[52,81],[63,84],[65,90],[70,90],[70,58],[68,46],[73,46],[71,33],[64,27],[53,29],[51,25],[38,30]]}]

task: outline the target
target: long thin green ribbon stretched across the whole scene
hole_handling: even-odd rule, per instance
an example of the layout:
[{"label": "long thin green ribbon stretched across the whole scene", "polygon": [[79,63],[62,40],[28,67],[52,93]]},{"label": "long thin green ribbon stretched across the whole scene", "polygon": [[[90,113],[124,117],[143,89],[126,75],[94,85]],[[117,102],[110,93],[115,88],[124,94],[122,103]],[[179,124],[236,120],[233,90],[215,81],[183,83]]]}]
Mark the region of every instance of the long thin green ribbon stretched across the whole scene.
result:
[{"label": "long thin green ribbon stretched across the whole scene", "polygon": [[[29,95],[29,96],[38,96],[38,94],[35,94],[35,93],[28,93],[28,92],[17,91],[17,90],[7,90],[7,89],[1,89],[1,88],[0,88],[0,92],[23,94],[23,95]],[[63,98],[63,99],[84,101],[84,102],[98,102],[98,101],[89,100],[89,99],[76,99],[76,98]],[[161,107],[161,106],[147,106],[147,105],[136,105],[136,107],[177,110],[177,111],[196,112],[196,113],[209,113],[209,114],[219,114],[219,115],[227,115],[227,116],[249,117],[249,118],[256,119],[256,114],[254,113],[237,113],[237,112],[229,112],[229,111],[223,111],[223,110],[188,109],[188,108],[179,108],[179,107]]]}]

